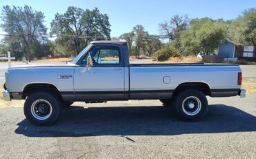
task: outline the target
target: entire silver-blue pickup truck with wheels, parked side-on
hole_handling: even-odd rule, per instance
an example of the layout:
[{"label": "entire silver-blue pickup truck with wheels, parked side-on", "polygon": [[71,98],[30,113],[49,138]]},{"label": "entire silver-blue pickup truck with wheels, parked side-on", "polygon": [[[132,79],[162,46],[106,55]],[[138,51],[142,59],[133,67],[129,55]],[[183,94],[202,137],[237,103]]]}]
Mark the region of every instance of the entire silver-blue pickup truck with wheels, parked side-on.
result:
[{"label": "entire silver-blue pickup truck with wheels, parked side-on", "polygon": [[53,124],[73,102],[160,100],[185,121],[201,118],[210,97],[246,96],[235,64],[129,64],[125,41],[93,41],[68,64],[6,71],[5,100],[26,100],[35,125]]}]

